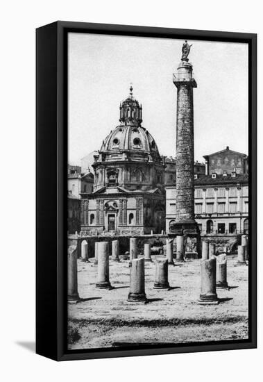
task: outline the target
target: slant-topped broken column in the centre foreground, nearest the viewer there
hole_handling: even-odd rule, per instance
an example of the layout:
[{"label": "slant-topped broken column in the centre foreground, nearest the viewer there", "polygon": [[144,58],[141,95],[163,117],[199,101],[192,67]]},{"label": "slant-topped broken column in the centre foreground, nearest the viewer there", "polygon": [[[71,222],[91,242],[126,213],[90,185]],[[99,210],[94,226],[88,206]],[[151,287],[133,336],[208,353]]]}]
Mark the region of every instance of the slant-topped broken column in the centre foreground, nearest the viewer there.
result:
[{"label": "slant-topped broken column in the centre foreground, nearest the viewer there", "polygon": [[144,258],[130,260],[130,292],[128,302],[146,302]]}]

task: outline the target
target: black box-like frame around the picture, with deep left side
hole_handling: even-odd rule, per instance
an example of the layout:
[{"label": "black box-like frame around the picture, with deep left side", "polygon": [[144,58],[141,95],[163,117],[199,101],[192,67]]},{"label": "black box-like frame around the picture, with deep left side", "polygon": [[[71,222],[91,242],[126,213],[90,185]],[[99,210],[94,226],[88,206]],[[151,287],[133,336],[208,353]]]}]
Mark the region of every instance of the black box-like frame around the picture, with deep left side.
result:
[{"label": "black box-like frame around the picture, with deep left side", "polygon": [[[138,348],[67,350],[67,33],[248,43],[249,338]],[[257,347],[257,35],[176,28],[54,22],[36,31],[36,352],[80,360]]]}]

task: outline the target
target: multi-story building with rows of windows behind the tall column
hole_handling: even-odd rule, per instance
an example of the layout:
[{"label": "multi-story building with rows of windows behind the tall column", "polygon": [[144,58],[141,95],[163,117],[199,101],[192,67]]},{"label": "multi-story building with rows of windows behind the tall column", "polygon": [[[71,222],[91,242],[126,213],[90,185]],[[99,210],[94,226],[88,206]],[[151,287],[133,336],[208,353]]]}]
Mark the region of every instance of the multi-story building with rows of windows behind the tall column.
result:
[{"label": "multi-story building with rows of windows behind the tall column", "polygon": [[[225,150],[204,156],[206,174],[195,174],[195,219],[201,235],[248,233],[248,156]],[[176,216],[176,186],[166,187],[167,231]]]}]

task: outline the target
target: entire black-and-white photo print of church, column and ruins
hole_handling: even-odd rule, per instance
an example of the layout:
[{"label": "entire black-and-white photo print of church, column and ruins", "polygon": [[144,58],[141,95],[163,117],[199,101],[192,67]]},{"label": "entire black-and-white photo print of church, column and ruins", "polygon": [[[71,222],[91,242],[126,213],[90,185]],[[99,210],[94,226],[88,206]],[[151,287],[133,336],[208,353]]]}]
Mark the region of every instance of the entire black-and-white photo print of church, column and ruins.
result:
[{"label": "entire black-and-white photo print of church, column and ruins", "polygon": [[69,351],[248,340],[248,63],[68,34]]}]

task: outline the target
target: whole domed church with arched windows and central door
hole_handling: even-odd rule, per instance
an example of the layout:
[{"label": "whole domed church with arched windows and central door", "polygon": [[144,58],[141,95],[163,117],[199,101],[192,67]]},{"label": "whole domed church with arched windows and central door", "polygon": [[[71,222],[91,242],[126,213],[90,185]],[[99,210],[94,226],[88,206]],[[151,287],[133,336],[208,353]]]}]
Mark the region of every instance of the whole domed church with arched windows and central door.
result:
[{"label": "whole domed church with arched windows and central door", "polygon": [[133,97],[119,106],[120,124],[94,155],[93,192],[82,192],[81,231],[161,233],[165,229],[164,158],[142,126],[142,105]]}]

